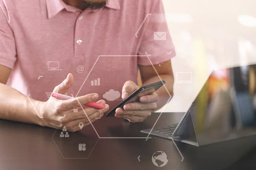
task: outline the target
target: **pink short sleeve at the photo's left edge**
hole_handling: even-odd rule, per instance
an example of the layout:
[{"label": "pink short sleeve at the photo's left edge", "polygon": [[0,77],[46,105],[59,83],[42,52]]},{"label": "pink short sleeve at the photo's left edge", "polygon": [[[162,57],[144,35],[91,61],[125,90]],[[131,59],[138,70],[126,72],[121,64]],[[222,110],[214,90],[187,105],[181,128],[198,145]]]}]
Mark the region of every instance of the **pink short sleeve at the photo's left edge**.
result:
[{"label": "pink short sleeve at the photo's left edge", "polygon": [[0,65],[13,68],[16,61],[15,38],[6,6],[0,0]]}]

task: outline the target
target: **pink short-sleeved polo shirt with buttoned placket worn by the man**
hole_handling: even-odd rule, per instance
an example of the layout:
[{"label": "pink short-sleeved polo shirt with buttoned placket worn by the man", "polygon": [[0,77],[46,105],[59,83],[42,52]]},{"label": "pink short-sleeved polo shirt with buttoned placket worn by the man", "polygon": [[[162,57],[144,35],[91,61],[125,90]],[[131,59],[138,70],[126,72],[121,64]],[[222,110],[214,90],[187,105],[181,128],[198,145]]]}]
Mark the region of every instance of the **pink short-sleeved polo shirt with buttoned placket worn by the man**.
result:
[{"label": "pink short-sleeved polo shirt with buttoned placket worn by the man", "polygon": [[115,105],[125,81],[137,82],[138,65],[175,56],[163,15],[161,0],[84,11],[62,0],[0,0],[0,65],[12,68],[8,85],[33,99],[46,101],[72,73],[68,95],[96,92]]}]

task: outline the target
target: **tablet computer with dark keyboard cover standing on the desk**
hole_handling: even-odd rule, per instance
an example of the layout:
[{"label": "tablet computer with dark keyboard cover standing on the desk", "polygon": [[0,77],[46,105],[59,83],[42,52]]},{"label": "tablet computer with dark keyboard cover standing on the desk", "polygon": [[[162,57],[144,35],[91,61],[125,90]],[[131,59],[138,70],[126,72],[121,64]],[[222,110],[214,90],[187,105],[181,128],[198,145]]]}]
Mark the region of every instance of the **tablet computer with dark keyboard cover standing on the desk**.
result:
[{"label": "tablet computer with dark keyboard cover standing on the desk", "polygon": [[256,135],[255,79],[256,64],[212,71],[178,124],[140,132],[194,146]]}]

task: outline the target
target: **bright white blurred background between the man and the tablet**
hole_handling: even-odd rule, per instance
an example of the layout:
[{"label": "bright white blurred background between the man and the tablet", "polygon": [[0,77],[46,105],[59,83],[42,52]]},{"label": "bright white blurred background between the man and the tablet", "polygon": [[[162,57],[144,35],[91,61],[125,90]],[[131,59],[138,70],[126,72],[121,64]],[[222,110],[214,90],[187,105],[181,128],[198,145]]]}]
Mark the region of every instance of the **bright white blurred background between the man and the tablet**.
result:
[{"label": "bright white blurred background between the man and the tablet", "polygon": [[185,112],[213,69],[256,63],[255,0],[163,0],[177,56],[174,97],[163,112]]}]

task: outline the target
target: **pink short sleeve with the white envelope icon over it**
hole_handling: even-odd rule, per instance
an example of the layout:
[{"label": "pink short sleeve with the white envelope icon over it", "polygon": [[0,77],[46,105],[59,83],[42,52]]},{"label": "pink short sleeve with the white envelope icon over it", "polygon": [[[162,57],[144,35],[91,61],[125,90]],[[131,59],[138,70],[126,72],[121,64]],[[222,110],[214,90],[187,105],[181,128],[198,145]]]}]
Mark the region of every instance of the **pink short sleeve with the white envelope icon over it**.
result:
[{"label": "pink short sleeve with the white envelope icon over it", "polygon": [[[146,23],[146,22],[145,22]],[[175,47],[167,26],[162,0],[157,0],[145,24],[143,40],[138,55],[147,53],[152,64],[165,62],[175,57]],[[147,57],[138,57],[139,65],[151,65]]]}]

